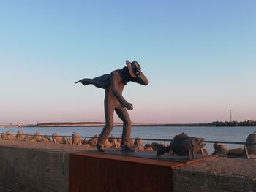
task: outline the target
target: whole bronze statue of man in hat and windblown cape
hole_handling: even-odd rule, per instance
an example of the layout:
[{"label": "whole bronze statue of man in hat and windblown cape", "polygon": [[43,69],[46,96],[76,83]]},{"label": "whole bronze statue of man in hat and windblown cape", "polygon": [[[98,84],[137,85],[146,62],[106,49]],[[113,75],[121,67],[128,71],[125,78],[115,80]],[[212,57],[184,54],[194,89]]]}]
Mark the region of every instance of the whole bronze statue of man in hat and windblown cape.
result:
[{"label": "whole bronze statue of man in hat and windblown cape", "polygon": [[[123,69],[118,69],[111,74],[104,74],[100,77],[95,77],[94,79],[83,79],[81,82],[83,85],[92,84],[97,88],[105,89],[105,127],[102,129],[101,134],[99,134],[97,150],[99,152],[104,152],[104,143],[110,132],[113,129],[113,112],[116,111],[118,117],[123,121],[123,133],[121,136],[121,150],[122,151],[135,151],[134,148],[129,146],[130,134],[131,134],[131,120],[127,110],[132,110],[133,106],[131,103],[127,102],[122,96],[124,86],[127,82],[137,82],[141,85],[148,85],[148,79],[141,72],[140,65],[137,61],[130,63],[126,61],[127,66]],[[75,83],[78,83],[75,82]]]}]

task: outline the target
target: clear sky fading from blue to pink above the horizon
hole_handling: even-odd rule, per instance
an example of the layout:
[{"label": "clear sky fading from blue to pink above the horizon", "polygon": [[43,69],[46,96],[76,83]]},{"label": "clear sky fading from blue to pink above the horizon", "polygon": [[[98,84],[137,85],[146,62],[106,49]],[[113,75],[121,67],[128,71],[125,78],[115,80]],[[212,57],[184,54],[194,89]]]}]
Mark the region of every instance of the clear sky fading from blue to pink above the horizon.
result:
[{"label": "clear sky fading from blue to pink above the horizon", "polygon": [[[74,84],[137,60],[134,122],[256,119],[256,1],[0,1],[0,123],[104,121]],[[118,121],[118,118],[116,118]]]}]

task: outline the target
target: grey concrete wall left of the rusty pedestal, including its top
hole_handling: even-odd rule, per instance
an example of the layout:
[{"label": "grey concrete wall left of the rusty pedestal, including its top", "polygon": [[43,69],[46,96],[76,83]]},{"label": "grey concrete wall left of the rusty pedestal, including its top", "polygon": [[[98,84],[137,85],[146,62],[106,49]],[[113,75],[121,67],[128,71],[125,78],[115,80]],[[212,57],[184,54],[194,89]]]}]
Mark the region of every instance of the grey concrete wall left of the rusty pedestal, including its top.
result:
[{"label": "grey concrete wall left of the rusty pedestal, including its top", "polygon": [[68,191],[69,154],[83,150],[88,147],[0,140],[0,186],[16,192]]}]

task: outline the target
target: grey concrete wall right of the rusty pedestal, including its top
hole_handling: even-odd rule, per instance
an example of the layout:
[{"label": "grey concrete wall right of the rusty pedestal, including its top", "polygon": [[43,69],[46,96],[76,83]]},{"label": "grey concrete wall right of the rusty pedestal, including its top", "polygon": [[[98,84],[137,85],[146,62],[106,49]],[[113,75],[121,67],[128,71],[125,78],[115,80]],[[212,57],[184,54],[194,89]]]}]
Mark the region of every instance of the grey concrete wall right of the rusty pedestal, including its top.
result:
[{"label": "grey concrete wall right of the rusty pedestal, including its top", "polygon": [[256,160],[216,158],[173,171],[174,191],[256,191]]}]

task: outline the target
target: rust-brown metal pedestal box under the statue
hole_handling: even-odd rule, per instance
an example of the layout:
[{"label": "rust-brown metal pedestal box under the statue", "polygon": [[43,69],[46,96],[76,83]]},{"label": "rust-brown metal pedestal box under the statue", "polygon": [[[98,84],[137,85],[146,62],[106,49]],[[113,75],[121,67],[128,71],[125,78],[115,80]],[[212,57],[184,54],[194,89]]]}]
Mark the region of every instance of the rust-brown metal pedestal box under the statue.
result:
[{"label": "rust-brown metal pedestal box under the statue", "polygon": [[[130,155],[129,155],[130,154]],[[143,155],[143,158],[132,155]],[[69,192],[173,191],[173,169],[192,162],[145,158],[150,153],[85,152],[70,155]],[[155,153],[151,153],[155,156]],[[204,159],[204,158],[202,158]]]}]

